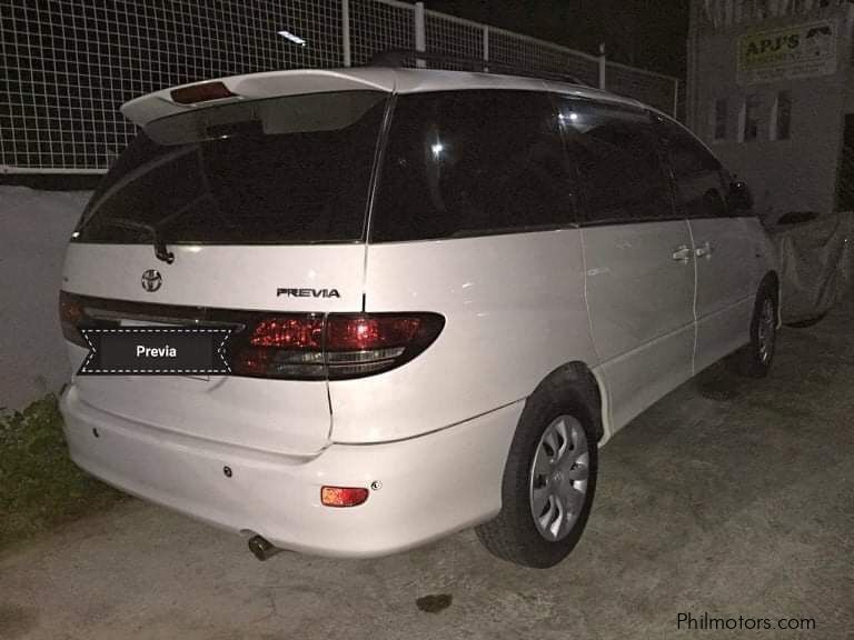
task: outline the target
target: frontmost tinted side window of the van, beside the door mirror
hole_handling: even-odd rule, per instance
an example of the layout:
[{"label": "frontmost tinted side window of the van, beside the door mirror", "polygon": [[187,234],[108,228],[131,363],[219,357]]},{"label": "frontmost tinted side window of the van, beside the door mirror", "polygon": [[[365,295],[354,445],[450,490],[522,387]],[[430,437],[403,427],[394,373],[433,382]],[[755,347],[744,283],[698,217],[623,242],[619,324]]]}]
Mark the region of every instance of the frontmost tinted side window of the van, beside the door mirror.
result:
[{"label": "frontmost tinted side window of the van, beside the door mirror", "polygon": [[658,124],[673,171],[679,214],[687,218],[727,216],[726,181],[717,158],[678,124],[664,119]]}]

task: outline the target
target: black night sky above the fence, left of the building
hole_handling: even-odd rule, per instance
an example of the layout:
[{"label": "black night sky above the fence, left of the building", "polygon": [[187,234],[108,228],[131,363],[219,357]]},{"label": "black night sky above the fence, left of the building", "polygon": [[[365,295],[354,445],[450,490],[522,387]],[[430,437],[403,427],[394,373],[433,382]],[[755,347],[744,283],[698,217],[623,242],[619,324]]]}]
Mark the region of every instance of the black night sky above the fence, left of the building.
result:
[{"label": "black night sky above the fence, left of the building", "polygon": [[683,78],[689,0],[425,0],[444,11]]}]

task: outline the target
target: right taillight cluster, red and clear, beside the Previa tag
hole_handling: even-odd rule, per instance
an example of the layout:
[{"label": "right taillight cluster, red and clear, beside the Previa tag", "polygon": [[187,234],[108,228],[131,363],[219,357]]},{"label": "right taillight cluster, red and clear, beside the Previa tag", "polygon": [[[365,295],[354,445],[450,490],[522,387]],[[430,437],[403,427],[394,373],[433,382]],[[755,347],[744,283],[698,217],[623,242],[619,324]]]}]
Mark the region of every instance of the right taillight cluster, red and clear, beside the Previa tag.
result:
[{"label": "right taillight cluster, red and clear, beside the Previa tag", "polygon": [[234,338],[231,370],[262,378],[360,378],[411,360],[444,324],[435,313],[264,317]]}]

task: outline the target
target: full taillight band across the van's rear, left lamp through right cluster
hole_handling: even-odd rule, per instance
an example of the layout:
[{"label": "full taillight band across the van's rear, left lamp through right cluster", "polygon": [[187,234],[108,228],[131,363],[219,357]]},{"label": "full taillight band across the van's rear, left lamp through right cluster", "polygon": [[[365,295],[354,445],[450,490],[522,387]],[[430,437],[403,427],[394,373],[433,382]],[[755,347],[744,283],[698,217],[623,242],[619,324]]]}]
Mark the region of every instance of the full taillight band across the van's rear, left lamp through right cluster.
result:
[{"label": "full taillight band across the van's rear, left lamp through right cluster", "polygon": [[388,371],[424,352],[445,327],[437,313],[270,313],[59,292],[62,334],[75,344],[88,347],[81,327],[118,327],[118,320],[103,318],[107,313],[231,327],[226,349],[234,376],[289,380],[346,380]]}]

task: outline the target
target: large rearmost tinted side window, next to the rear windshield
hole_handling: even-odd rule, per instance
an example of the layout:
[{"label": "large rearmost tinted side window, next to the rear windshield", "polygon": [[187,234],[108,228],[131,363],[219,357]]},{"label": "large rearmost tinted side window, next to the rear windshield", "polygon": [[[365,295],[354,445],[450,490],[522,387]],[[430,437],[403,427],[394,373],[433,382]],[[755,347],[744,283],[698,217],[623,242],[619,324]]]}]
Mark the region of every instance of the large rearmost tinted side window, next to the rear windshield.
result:
[{"label": "large rearmost tinted side window, next to the rear windshield", "polygon": [[518,232],[575,221],[572,183],[545,92],[400,96],[371,240]]}]

